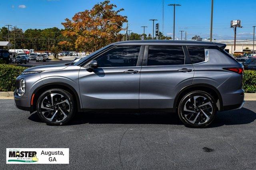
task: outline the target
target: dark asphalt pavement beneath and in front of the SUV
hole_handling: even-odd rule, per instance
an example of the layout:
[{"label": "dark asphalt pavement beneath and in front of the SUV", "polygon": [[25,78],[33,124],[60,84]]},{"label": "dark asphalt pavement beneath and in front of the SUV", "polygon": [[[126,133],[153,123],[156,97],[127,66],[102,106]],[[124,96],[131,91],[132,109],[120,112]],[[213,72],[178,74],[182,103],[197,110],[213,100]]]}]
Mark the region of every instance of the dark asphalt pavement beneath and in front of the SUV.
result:
[{"label": "dark asphalt pavement beneath and in front of the SUV", "polygon": [[[78,113],[48,126],[0,100],[0,169],[255,169],[256,101],[208,128],[170,113]],[[6,164],[6,148],[70,148],[70,164]]]}]

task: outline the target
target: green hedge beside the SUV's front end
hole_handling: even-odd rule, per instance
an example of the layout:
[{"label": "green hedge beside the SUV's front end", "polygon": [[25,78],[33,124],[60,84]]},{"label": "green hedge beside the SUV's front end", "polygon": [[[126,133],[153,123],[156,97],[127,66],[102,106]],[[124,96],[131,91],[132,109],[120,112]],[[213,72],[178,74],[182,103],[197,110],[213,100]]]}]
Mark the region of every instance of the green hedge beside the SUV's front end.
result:
[{"label": "green hedge beside the SUV's front end", "polygon": [[0,64],[0,91],[8,92],[15,90],[16,77],[18,77],[26,67]]}]

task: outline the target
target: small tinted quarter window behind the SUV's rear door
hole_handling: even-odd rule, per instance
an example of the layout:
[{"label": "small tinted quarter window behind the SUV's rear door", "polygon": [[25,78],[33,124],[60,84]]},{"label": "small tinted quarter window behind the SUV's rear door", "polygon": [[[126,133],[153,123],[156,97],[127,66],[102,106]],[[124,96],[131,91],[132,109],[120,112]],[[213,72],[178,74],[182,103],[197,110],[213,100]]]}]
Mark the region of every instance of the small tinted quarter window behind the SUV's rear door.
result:
[{"label": "small tinted quarter window behind the SUV's rear door", "polygon": [[188,45],[187,48],[192,64],[205,61],[204,46]]}]

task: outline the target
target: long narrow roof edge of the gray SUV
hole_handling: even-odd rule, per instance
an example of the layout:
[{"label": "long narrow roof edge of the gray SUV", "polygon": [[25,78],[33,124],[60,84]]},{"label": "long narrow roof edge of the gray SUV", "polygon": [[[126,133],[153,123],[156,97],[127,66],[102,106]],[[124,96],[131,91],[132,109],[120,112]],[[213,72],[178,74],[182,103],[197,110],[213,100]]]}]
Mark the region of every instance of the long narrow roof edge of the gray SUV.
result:
[{"label": "long narrow roof edge of the gray SUV", "polygon": [[120,41],[112,43],[112,45],[217,45],[207,41],[181,41],[181,40],[136,40],[136,41]]}]

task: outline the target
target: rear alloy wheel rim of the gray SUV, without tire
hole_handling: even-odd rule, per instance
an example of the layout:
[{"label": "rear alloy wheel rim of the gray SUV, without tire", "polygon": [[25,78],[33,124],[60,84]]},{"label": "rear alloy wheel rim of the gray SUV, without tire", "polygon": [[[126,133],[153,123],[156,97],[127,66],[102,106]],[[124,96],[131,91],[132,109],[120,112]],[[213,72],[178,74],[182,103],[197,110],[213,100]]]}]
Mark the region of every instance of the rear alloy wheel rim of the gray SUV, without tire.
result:
[{"label": "rear alloy wheel rim of the gray SUV, without tire", "polygon": [[212,103],[204,96],[192,96],[183,108],[185,119],[194,125],[207,123],[212,117]]}]

